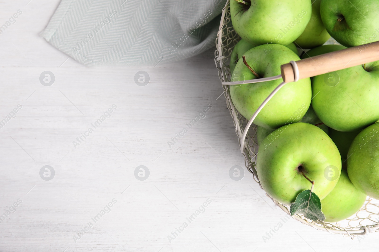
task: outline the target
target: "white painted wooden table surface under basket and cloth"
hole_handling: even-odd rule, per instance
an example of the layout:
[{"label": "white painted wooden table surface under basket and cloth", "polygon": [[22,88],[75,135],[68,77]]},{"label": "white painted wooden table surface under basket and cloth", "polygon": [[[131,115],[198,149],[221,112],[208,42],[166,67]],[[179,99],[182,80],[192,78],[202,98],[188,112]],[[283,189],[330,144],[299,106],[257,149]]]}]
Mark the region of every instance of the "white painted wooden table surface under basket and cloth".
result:
[{"label": "white painted wooden table surface under basket and cloth", "polygon": [[[22,201],[0,223],[0,251],[377,250],[378,234],[350,240],[284,222],[251,174],[229,177],[244,159],[209,51],[155,68],[86,68],[38,36],[59,0],[29,1],[0,2],[0,25],[22,11],[0,35],[0,120],[22,106],[0,128],[0,215]],[[55,76],[49,87],[44,71]],[[138,71],[148,85],[136,85]],[[55,171],[50,181],[39,175],[44,165]],[[139,165],[150,172],[144,181]]]}]

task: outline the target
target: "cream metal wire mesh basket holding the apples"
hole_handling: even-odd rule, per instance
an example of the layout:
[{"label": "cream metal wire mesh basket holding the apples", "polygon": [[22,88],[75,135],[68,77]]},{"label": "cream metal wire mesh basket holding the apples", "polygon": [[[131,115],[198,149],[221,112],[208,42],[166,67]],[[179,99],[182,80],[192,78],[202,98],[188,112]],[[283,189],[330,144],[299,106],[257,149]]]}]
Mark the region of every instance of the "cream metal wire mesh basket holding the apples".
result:
[{"label": "cream metal wire mesh basket holding the apples", "polygon": [[[230,18],[229,3],[230,0],[227,0],[224,9],[222,9],[221,22],[216,38],[215,64],[219,70],[218,75],[221,81],[230,81],[230,55],[235,44],[241,39],[233,29],[232,21]],[[238,113],[234,107],[232,99],[230,97],[230,86],[223,85],[222,87],[224,88],[226,104],[233,118],[235,132],[238,136],[238,142],[240,143],[248,120],[246,120],[240,113]],[[252,173],[254,180],[260,185],[257,171],[255,170],[255,161],[258,153],[258,145],[255,141],[256,133],[257,126],[253,124],[251,125],[245,139],[243,155],[245,156],[245,165],[247,170]],[[263,190],[262,186],[260,187]],[[290,206],[281,204],[280,202],[271,198],[267,193],[266,196],[273,200],[274,204],[279,206],[280,209],[290,215]],[[342,234],[353,239],[354,237],[360,235],[366,235],[369,232],[379,232],[379,201],[367,197],[362,208],[355,215],[337,223],[312,221],[305,218],[302,214],[293,215],[292,218],[317,230],[323,230],[334,234]]]}]

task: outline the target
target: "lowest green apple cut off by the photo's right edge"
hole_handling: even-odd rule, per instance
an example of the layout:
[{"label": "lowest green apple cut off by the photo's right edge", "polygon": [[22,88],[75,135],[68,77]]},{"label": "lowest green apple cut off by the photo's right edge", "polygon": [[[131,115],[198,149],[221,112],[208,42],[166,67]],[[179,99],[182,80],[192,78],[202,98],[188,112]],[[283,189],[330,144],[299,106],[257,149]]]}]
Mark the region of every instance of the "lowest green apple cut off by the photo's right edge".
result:
[{"label": "lowest green apple cut off by the photo's right edge", "polygon": [[348,175],[361,192],[379,199],[379,123],[362,130],[350,145]]}]

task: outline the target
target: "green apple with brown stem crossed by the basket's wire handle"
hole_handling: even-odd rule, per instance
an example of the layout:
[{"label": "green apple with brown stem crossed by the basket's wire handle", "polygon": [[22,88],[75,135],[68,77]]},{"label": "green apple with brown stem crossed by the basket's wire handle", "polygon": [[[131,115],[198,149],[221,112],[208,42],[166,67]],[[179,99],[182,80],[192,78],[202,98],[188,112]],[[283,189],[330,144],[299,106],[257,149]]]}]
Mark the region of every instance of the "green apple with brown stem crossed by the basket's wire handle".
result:
[{"label": "green apple with brown stem crossed by the basket's wire handle", "polygon": [[[234,1],[234,0],[233,0]],[[260,45],[245,53],[246,62],[261,78],[280,74],[280,66],[291,60],[299,60],[291,49],[283,45]],[[238,60],[232,81],[257,79],[243,60]],[[250,119],[263,100],[282,82],[282,79],[259,83],[231,85],[230,96],[236,109]],[[266,104],[254,120],[254,124],[265,128],[278,128],[298,122],[307,112],[311,99],[310,79],[290,82],[282,87]],[[294,118],[299,114],[298,118]]]}]

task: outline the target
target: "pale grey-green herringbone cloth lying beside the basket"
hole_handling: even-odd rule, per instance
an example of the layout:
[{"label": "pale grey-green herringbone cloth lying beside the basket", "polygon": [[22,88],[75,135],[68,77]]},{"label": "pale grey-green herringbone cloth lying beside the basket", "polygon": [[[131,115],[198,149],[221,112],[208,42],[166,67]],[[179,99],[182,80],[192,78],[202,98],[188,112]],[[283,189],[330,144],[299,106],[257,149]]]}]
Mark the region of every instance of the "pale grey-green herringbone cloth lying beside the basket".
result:
[{"label": "pale grey-green herringbone cloth lying beside the basket", "polygon": [[156,65],[212,51],[226,0],[62,0],[42,32],[86,66]]}]

